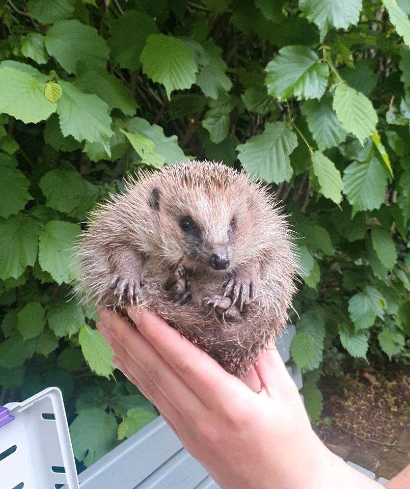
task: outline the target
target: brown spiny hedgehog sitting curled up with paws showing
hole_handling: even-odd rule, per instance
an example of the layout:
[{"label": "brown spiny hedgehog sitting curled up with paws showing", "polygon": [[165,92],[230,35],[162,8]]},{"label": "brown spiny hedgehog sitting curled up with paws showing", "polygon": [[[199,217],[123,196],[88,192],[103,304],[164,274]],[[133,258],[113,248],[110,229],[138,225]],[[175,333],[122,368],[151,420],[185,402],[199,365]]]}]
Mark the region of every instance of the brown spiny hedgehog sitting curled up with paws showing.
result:
[{"label": "brown spiny hedgehog sitting curled up with paws showing", "polygon": [[76,292],[128,319],[148,308],[243,378],[288,320],[297,259],[285,217],[266,185],[222,162],[142,173],[90,213]]}]

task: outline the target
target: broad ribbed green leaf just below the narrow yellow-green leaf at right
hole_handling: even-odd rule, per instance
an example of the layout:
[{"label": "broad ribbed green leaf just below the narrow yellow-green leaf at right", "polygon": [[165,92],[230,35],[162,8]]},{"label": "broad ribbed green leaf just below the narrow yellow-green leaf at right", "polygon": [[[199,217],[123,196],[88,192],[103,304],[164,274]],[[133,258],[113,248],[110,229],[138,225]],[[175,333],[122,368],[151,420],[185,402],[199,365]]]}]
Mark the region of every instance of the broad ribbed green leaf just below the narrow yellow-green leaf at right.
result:
[{"label": "broad ribbed green leaf just below the narrow yellow-green leaf at right", "polygon": [[385,201],[386,184],[386,174],[376,157],[353,161],[343,175],[343,192],[353,206],[353,214],[378,209]]}]

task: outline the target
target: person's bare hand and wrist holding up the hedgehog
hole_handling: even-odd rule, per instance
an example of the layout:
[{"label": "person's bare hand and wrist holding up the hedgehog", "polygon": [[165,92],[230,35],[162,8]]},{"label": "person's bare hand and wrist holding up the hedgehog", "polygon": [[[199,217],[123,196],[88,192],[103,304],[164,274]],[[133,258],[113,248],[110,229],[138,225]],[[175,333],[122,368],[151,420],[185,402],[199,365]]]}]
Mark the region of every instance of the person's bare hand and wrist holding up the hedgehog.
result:
[{"label": "person's bare hand and wrist holding up the hedgehog", "polygon": [[275,349],[264,352],[242,382],[153,313],[129,311],[138,330],[112,311],[99,315],[114,364],[222,488],[382,487],[316,437]]}]

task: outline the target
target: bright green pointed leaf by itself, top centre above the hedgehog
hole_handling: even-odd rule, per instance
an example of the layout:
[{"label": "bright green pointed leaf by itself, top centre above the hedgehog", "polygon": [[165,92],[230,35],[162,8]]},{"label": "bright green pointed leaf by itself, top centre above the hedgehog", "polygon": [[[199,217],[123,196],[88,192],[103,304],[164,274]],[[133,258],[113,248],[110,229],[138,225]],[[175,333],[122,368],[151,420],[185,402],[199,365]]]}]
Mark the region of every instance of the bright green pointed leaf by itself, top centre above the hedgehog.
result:
[{"label": "bright green pointed leaf by itself, top centre above the hedgehog", "polygon": [[190,88],[195,83],[198,67],[192,52],[175,37],[151,34],[141,53],[141,62],[144,73],[165,86],[168,98],[173,90]]}]

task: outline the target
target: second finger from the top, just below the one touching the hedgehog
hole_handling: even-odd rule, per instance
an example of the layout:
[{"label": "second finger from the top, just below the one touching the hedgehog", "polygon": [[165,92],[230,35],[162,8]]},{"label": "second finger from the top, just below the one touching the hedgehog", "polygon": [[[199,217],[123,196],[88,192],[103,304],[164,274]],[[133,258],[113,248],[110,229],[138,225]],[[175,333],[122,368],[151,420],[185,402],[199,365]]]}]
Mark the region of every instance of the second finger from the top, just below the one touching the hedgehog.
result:
[{"label": "second finger from the top, just below the one touching the hedgehog", "polygon": [[[101,317],[115,340],[112,344],[110,337],[107,338],[116,355],[120,357],[121,348],[124,349],[128,356],[145,370],[151,383],[145,388],[150,389],[150,395],[153,396],[155,387],[184,416],[199,416],[204,409],[202,402],[142,334],[111,311],[102,313]],[[116,350],[120,351],[120,354],[117,354]]]}]

